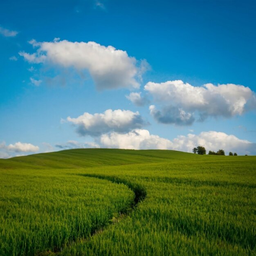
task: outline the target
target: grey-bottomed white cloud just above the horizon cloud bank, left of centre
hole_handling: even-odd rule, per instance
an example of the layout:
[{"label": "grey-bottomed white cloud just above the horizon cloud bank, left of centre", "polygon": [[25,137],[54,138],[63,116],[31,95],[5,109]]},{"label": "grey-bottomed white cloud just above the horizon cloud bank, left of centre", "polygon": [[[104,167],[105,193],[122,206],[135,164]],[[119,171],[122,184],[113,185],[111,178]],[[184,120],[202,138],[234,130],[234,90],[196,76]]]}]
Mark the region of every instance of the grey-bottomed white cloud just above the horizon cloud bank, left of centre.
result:
[{"label": "grey-bottomed white cloud just above the horizon cloud bank, left of centre", "polygon": [[76,131],[81,136],[99,136],[110,131],[128,132],[145,124],[139,112],[120,109],[108,109],[94,115],[85,112],[77,118],[67,117],[67,121],[77,126]]}]

